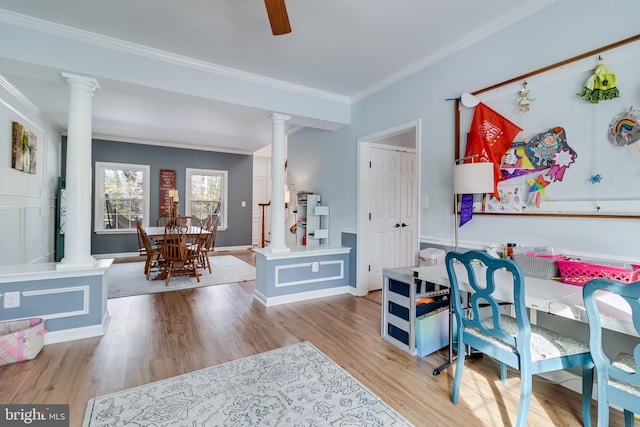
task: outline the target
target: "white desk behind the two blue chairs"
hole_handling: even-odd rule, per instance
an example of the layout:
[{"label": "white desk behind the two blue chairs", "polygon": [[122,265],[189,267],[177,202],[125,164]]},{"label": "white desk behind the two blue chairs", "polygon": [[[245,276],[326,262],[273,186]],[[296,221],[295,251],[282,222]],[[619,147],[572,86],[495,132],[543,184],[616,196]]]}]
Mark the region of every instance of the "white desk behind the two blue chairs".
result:
[{"label": "white desk behind the two blue chairs", "polygon": [[[456,269],[460,290],[462,292],[470,291],[471,287],[469,285],[465,266],[462,264],[456,264],[454,268]],[[486,267],[481,266],[474,268],[486,269]],[[435,283],[436,285],[441,286],[451,286],[449,283],[449,275],[447,274],[447,267],[444,264],[414,268],[413,275],[418,280]],[[482,283],[485,274],[480,273],[477,277],[480,283]],[[582,299],[581,286],[569,285],[555,280],[538,279],[536,277],[529,276],[525,277],[524,282],[524,300],[527,308],[588,323]],[[495,283],[496,297],[504,302],[512,303],[513,279],[511,278],[511,274],[506,271],[496,272]],[[625,310],[625,308],[628,307],[626,303],[622,302],[622,298],[619,295],[601,293],[596,297],[596,299],[602,306],[600,317],[604,328],[622,332],[627,335],[637,336],[635,328],[631,323],[631,313],[630,311]],[[449,363],[451,363],[451,336],[449,337],[449,340]],[[439,369],[434,371],[434,375],[439,373]]]}]

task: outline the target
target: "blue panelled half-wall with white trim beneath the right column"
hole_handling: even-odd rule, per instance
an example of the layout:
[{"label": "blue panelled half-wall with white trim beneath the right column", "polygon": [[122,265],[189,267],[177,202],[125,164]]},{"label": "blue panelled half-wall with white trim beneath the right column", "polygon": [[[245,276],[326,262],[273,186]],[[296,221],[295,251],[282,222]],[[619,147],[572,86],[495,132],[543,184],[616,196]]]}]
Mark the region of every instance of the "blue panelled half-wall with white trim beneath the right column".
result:
[{"label": "blue panelled half-wall with white trim beneath the right column", "polygon": [[349,293],[348,247],[255,249],[255,297],[266,306]]}]

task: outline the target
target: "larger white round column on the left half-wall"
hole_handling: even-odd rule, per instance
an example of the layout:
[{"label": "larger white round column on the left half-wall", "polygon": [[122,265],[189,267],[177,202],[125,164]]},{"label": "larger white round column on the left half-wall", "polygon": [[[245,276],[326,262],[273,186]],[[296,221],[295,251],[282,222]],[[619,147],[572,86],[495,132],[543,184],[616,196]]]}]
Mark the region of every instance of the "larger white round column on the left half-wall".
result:
[{"label": "larger white round column on the left half-wall", "polygon": [[59,267],[95,263],[91,256],[91,121],[93,93],[98,82],[90,77],[62,73],[70,88],[67,129],[67,202],[64,258]]}]

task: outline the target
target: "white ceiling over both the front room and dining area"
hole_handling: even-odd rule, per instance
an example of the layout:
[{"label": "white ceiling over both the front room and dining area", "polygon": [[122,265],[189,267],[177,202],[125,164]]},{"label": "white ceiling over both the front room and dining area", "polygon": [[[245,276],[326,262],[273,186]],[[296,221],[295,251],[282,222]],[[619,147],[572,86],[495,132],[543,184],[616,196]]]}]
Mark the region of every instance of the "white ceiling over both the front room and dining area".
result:
[{"label": "white ceiling over both the front room and dining area", "polygon": [[[0,29],[63,35],[69,46],[77,40],[96,46],[127,42],[121,49],[141,57],[153,52],[168,65],[186,58],[227,78],[348,104],[553,1],[287,0],[292,32],[276,37],[262,0],[0,0]],[[68,54],[65,43],[55,47],[61,55]],[[0,74],[64,133],[69,89],[60,71],[86,69],[67,61],[73,68],[61,70],[24,51],[1,56]],[[234,103],[213,90],[194,95],[170,85],[132,84],[118,73],[95,74],[100,89],[93,101],[94,136],[235,152],[271,142],[265,119],[272,111],[252,105],[247,93]],[[279,112],[289,114],[286,102]],[[288,125],[308,123],[300,118]]]}]

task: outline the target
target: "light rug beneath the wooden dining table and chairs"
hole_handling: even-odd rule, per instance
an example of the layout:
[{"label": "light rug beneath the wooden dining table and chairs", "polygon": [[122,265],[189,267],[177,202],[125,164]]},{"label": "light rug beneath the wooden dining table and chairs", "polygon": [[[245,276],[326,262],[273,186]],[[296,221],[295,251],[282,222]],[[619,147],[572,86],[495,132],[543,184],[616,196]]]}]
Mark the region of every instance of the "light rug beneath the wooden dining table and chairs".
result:
[{"label": "light rug beneath the wooden dining table and chairs", "polygon": [[[106,274],[107,298],[199,288],[256,279],[255,267],[232,255],[216,255],[209,257],[209,260],[211,260],[211,273],[209,273],[209,270],[201,270],[202,274],[200,275],[199,283],[195,277],[176,276],[169,280],[168,286],[165,286],[164,280],[147,280],[144,275],[144,262],[112,264]],[[151,277],[157,274],[152,272]]]}]

